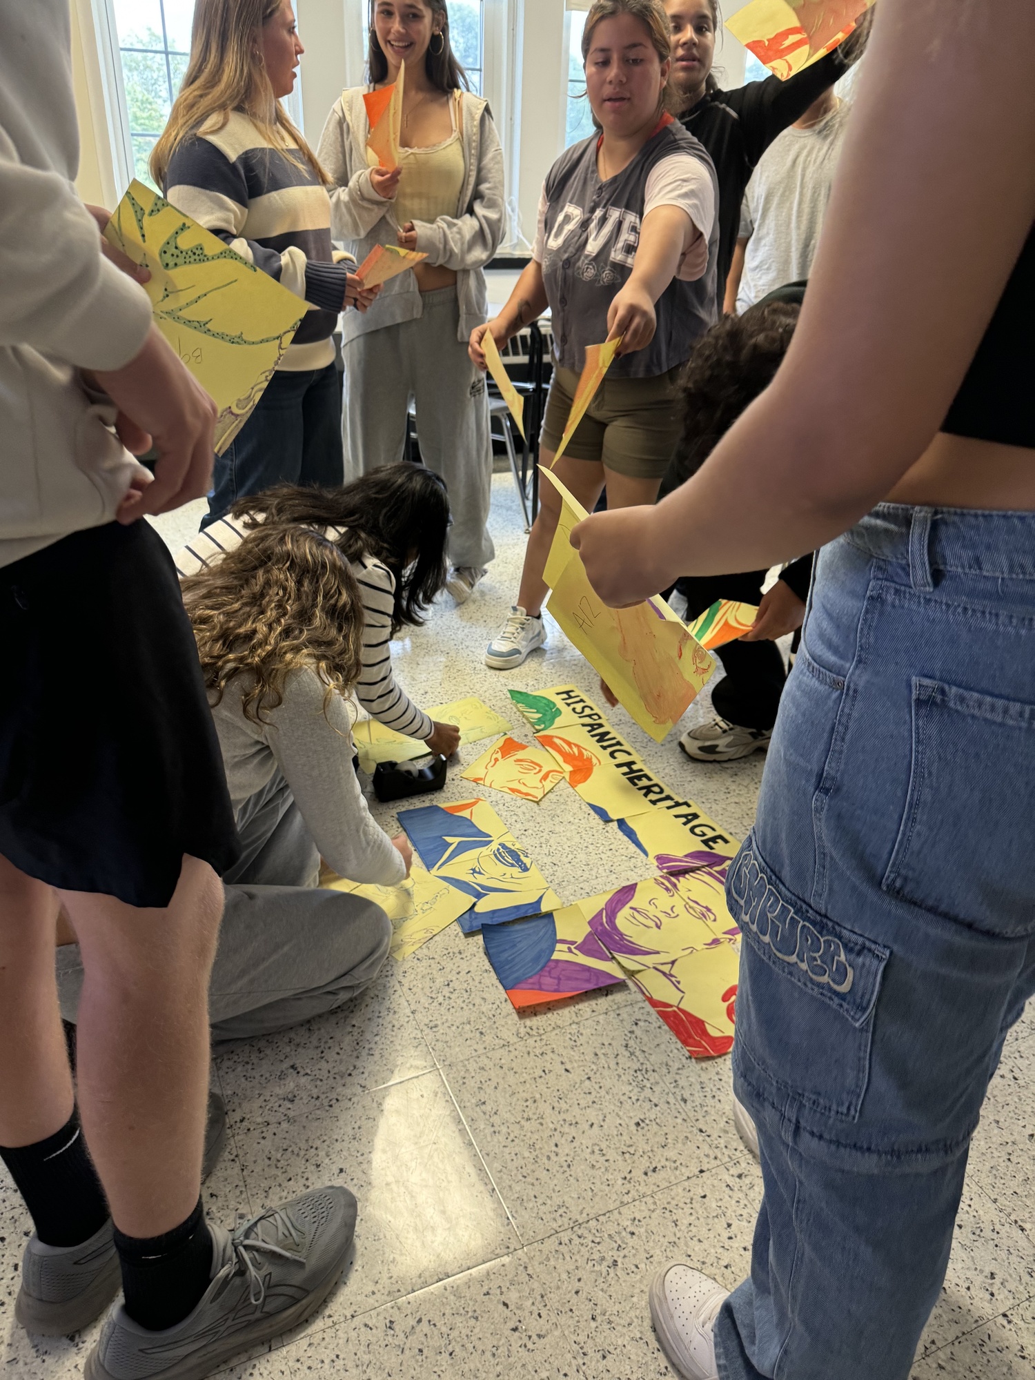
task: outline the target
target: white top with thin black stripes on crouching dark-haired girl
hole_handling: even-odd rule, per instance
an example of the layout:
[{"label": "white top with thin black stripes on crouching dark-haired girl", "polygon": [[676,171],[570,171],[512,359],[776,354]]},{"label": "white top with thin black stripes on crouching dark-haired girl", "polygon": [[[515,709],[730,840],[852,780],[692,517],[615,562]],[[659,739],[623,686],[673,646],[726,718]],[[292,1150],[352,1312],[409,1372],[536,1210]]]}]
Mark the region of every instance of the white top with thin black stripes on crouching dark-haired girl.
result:
[{"label": "white top with thin black stripes on crouching dark-haired girl", "polygon": [[[248,529],[232,518],[221,518],[203,531],[175,556],[177,574],[181,580],[196,575],[239,546]],[[341,527],[328,527],[331,540],[342,535]],[[363,604],[363,672],[355,686],[356,698],[378,723],[408,738],[426,738],[432,731],[432,720],[396,684],[392,675],[392,610],[395,609],[395,575],[373,556],[362,556],[351,562],[352,573],[359,585]]]}]

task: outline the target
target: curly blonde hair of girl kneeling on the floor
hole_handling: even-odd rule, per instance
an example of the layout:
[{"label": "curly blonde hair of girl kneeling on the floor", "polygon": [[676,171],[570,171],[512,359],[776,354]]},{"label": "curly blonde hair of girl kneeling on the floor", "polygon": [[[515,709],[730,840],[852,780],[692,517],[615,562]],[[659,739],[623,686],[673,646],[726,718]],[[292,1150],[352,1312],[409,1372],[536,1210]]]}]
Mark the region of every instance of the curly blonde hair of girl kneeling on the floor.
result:
[{"label": "curly blonde hair of girl kneeling on the floor", "polygon": [[333,541],[312,527],[264,523],[218,564],[181,584],[197,642],[206,689],[222,700],[235,676],[247,675],[244,716],[284,702],[293,671],[315,671],[334,691],[359,680],[363,606],[356,577]]}]

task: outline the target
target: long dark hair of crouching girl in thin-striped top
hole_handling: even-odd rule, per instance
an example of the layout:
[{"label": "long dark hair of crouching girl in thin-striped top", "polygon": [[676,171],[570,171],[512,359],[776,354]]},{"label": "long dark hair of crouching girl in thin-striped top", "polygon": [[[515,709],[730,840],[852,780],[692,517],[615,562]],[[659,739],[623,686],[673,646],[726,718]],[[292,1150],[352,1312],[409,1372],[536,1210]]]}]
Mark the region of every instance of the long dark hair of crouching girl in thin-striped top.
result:
[{"label": "long dark hair of crouching girl in thin-striped top", "polygon": [[373,556],[395,575],[392,636],[421,617],[446,584],[450,504],[446,484],[425,465],[382,465],[337,489],[280,484],[230,508],[246,527],[261,522],[345,527],[335,545],[346,560]]}]

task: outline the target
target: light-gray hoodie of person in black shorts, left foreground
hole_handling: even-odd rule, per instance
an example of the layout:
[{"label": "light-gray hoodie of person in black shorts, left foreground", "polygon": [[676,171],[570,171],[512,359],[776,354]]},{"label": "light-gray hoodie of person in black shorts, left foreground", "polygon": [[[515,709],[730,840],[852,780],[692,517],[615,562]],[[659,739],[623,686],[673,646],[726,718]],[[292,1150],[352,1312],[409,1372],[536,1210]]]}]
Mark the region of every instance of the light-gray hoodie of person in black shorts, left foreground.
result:
[{"label": "light-gray hoodie of person in black shorts, left foreground", "polygon": [[68,0],[0,4],[0,566],[110,522],[137,461],[80,368],[121,368],[148,294],[76,195]]}]

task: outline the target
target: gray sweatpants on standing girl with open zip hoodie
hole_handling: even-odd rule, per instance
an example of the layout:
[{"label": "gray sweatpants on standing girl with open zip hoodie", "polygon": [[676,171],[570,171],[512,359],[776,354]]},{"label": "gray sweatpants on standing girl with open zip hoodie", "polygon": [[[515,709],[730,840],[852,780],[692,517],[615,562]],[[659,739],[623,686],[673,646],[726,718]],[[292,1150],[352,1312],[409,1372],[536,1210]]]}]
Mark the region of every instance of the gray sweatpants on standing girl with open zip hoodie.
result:
[{"label": "gray sweatpants on standing girl with open zip hoodie", "polygon": [[495,555],[489,535],[493,443],[486,377],[457,339],[455,287],[421,295],[424,315],[382,326],[345,346],[345,476],[357,479],[404,454],[407,408],[417,408],[417,436],[429,469],[450,494],[454,566],[486,566]]}]

